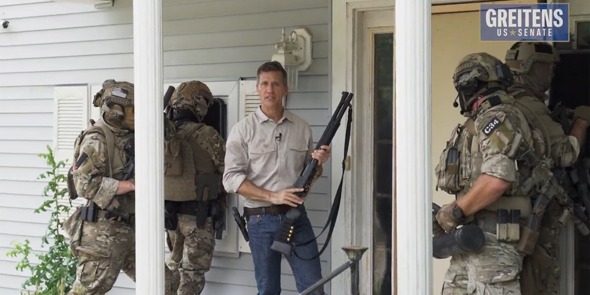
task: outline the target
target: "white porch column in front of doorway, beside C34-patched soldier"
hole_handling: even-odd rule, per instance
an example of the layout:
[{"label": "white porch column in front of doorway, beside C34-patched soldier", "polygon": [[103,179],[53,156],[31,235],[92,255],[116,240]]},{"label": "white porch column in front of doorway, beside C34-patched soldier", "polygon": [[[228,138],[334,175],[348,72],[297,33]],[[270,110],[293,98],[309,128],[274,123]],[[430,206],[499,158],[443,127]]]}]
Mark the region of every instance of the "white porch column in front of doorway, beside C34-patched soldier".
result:
[{"label": "white porch column in front of doorway, beside C34-patched soldier", "polygon": [[404,295],[432,294],[430,20],[430,1],[395,1],[392,224],[396,294]]}]

